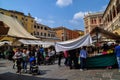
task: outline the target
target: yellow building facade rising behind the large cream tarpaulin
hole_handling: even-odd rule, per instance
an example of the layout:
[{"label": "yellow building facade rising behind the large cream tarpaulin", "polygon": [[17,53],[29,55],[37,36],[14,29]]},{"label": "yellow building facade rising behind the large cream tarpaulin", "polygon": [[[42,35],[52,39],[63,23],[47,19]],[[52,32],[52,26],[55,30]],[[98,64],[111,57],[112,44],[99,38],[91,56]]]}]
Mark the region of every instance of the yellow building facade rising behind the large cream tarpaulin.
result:
[{"label": "yellow building facade rising behind the large cream tarpaulin", "polygon": [[23,27],[29,32],[33,33],[33,26],[34,26],[34,18],[28,13],[28,15],[25,15],[22,12],[14,11],[14,10],[5,10],[0,8],[0,13],[16,18],[20,23],[23,25]]}]

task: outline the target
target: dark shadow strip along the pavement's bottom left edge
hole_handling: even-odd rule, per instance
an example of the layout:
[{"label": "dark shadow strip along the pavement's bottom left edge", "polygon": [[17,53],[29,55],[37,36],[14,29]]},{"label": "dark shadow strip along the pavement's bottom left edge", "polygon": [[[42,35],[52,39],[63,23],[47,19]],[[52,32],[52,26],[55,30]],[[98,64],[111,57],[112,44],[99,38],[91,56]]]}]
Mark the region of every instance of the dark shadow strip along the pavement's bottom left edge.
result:
[{"label": "dark shadow strip along the pavement's bottom left edge", "polygon": [[67,80],[67,79],[41,78],[36,76],[20,75],[7,72],[0,74],[0,80]]}]

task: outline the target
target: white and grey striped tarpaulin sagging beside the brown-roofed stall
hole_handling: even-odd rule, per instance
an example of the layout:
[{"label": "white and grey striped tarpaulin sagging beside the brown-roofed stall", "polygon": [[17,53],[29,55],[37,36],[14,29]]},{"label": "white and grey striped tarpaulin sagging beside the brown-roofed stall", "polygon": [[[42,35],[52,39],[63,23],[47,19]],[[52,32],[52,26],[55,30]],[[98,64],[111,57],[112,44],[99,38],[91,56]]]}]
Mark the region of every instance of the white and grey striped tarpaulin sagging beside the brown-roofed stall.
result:
[{"label": "white and grey striped tarpaulin sagging beside the brown-roofed stall", "polygon": [[90,34],[86,34],[82,37],[79,37],[74,40],[64,41],[64,42],[56,42],[55,49],[56,52],[72,50],[76,48],[80,48],[82,46],[88,46],[92,43],[92,38]]}]

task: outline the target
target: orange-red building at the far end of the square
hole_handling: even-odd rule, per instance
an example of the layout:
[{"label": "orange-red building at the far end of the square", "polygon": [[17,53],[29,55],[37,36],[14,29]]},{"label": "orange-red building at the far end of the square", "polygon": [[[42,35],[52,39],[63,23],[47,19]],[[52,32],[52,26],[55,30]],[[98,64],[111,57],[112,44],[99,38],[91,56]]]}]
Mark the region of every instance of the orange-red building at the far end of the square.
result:
[{"label": "orange-red building at the far end of the square", "polygon": [[79,32],[67,29],[66,27],[60,26],[53,28],[56,31],[56,37],[60,38],[61,41],[71,40],[80,36]]}]

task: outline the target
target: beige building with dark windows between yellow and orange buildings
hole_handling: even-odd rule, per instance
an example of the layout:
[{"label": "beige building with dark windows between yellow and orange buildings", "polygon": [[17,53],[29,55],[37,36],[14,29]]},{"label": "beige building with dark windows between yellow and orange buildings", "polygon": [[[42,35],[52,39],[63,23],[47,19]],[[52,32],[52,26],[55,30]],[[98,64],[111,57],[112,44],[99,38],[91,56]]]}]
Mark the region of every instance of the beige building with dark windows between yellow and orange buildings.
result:
[{"label": "beige building with dark windows between yellow and orange buildings", "polygon": [[56,37],[56,32],[52,28],[36,22],[34,25],[33,35],[37,38],[40,38],[42,41],[60,41],[60,39]]}]

